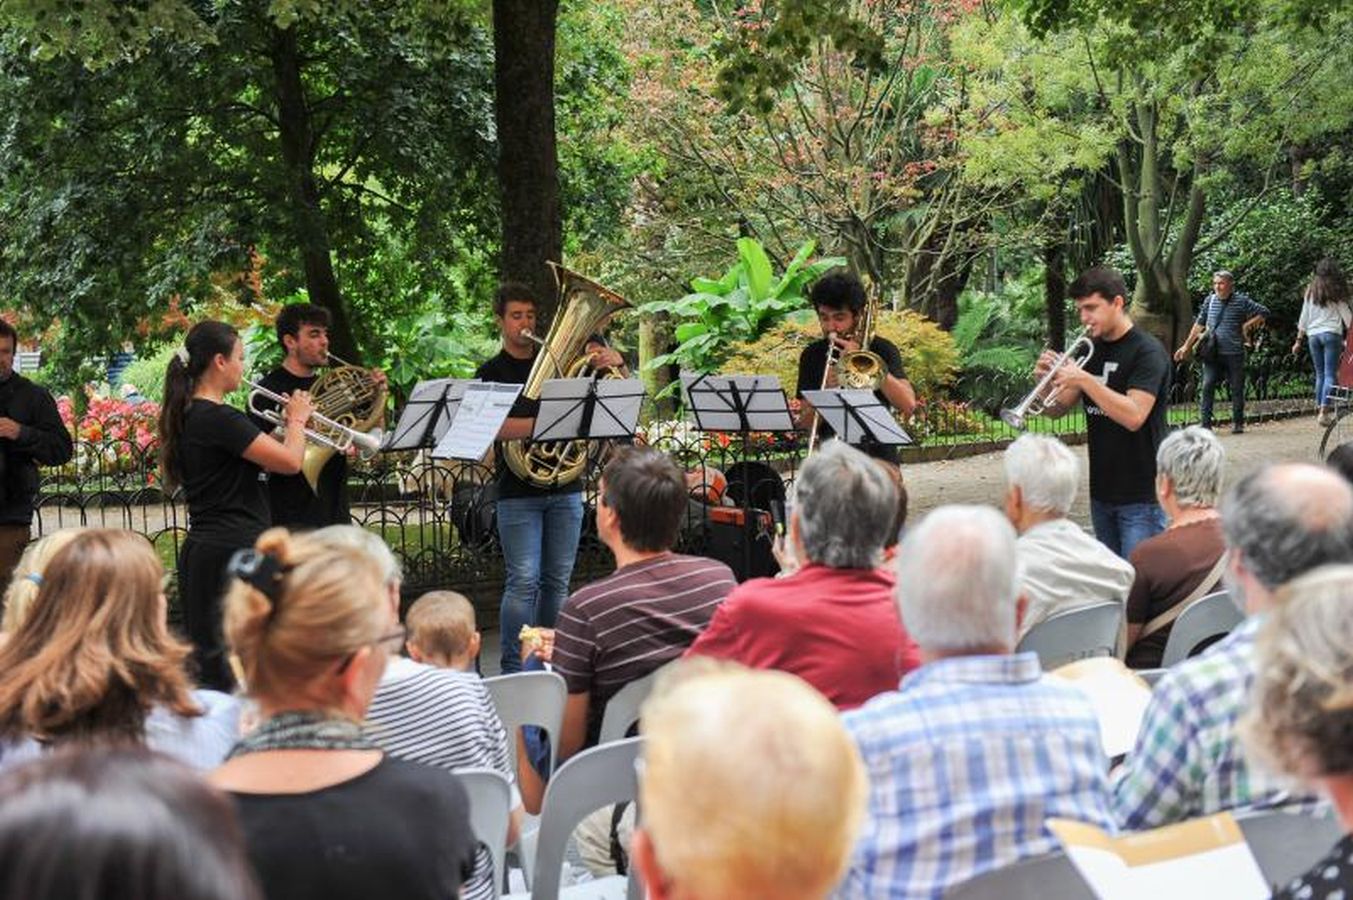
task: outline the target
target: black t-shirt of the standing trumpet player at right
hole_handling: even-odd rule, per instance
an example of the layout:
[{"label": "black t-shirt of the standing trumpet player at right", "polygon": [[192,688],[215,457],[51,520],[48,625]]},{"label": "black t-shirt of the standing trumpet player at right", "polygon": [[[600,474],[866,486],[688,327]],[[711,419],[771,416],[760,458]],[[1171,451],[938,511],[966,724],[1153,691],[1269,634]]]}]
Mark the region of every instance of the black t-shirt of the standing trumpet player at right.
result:
[{"label": "black t-shirt of the standing trumpet player at right", "polygon": [[1141,390],[1155,395],[1155,406],[1135,432],[1130,432],[1082,394],[1085,430],[1089,434],[1091,497],[1104,503],[1155,502],[1155,448],[1165,440],[1166,394],[1170,357],[1151,334],[1132,328],[1116,341],[1095,341],[1095,355],[1085,371],[1111,390]]}]

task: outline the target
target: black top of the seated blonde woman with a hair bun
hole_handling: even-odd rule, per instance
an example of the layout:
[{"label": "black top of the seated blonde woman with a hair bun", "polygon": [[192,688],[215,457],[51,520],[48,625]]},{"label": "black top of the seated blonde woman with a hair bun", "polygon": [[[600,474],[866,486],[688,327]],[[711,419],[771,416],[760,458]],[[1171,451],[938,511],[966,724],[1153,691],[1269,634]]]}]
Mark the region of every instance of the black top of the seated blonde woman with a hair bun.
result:
[{"label": "black top of the seated blonde woman with a hair bun", "polygon": [[474,870],[465,788],[449,771],[386,757],[306,793],[231,793],[269,900],[449,900]]}]

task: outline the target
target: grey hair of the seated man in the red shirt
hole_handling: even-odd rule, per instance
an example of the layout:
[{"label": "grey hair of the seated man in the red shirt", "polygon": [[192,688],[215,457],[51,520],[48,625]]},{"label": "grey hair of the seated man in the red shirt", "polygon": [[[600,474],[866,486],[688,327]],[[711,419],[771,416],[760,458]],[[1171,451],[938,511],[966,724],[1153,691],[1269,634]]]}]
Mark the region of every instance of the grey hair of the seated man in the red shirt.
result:
[{"label": "grey hair of the seated man in the red shirt", "polygon": [[794,479],[794,517],[809,562],[831,568],[873,568],[897,514],[897,489],[874,460],[831,440]]}]

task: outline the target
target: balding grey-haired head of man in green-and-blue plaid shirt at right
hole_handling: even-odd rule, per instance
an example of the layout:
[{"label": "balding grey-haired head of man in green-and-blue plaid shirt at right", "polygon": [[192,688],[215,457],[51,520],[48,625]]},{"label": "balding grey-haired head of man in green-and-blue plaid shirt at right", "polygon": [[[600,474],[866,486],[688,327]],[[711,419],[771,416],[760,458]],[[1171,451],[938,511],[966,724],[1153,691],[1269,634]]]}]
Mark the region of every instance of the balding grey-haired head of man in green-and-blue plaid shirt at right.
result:
[{"label": "balding grey-haired head of man in green-and-blue plaid shirt at right", "polygon": [[1268,590],[1327,563],[1353,563],[1353,487],[1307,463],[1265,466],[1222,501],[1226,544]]}]

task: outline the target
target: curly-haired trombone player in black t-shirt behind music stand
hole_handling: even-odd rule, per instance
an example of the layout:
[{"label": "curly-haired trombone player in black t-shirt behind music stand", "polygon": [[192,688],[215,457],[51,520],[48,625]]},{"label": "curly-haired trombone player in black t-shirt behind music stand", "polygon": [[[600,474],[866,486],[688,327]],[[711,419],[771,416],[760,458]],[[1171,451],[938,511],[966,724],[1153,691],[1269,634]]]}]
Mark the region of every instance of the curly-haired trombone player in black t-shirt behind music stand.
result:
[{"label": "curly-haired trombone player in black t-shirt behind music stand", "polygon": [[[824,368],[827,367],[828,344],[833,342],[836,345],[836,359],[840,359],[840,355],[844,352],[859,349],[861,336],[856,332],[863,328],[865,286],[861,284],[859,277],[854,272],[833,269],[813,283],[809,299],[817,311],[817,322],[823,329],[823,338],[805,346],[804,352],[798,356],[797,397],[802,401],[798,426],[804,430],[810,430],[813,420],[817,417],[817,411],[812,403],[804,399],[804,391],[839,387],[835,367],[825,374],[825,382],[823,380]],[[882,387],[874,391],[874,395],[879,402],[890,405],[902,415],[911,415],[912,410],[916,409],[916,391],[912,390],[912,383],[907,380],[907,372],[902,369],[902,356],[897,351],[897,345],[875,334],[869,342],[869,349],[884,360],[884,368],[888,371]],[[819,424],[819,440],[827,440],[832,434],[835,432],[831,425],[825,421]],[[884,459],[890,463],[898,460],[896,447],[862,445],[861,449],[875,459]]]}]

